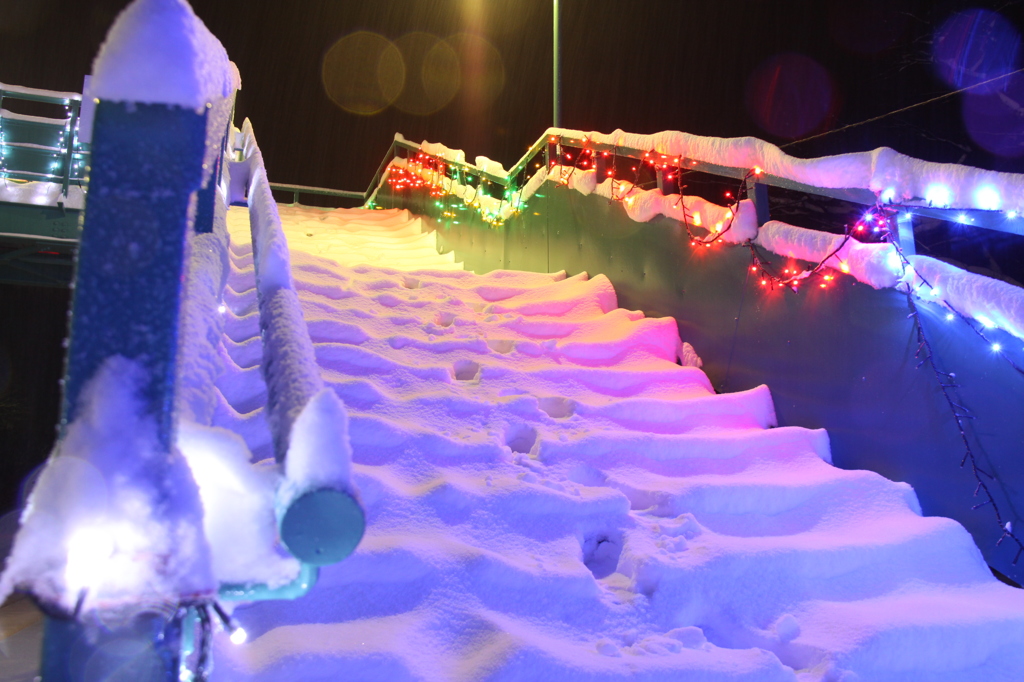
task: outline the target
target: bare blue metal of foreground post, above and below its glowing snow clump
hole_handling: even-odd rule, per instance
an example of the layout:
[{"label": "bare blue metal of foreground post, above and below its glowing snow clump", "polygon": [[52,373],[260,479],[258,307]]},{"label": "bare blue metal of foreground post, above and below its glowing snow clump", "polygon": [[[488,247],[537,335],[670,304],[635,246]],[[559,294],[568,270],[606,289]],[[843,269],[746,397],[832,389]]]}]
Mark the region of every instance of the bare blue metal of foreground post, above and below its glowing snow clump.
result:
[{"label": "bare blue metal of foreground post, above and below its glowing snow clump", "polygon": [[[144,368],[139,397],[157,422],[161,445],[171,452],[183,268],[204,177],[208,111],[109,101],[96,106],[61,430],[76,418],[83,387],[100,365],[122,355]],[[195,485],[178,484],[181,472],[171,457],[165,467],[168,508],[198,505]],[[174,682],[181,635],[174,612],[139,605],[130,616],[49,617],[43,681],[106,679],[118,671],[118,679]]]}]

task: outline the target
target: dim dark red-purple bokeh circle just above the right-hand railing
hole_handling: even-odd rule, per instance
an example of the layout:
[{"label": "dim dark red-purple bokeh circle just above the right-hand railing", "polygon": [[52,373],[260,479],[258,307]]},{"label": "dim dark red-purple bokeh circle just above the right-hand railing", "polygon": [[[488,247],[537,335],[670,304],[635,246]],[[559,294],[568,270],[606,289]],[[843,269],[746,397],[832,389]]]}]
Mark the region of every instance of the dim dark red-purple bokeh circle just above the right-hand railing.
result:
[{"label": "dim dark red-purple bokeh circle just above the right-hand railing", "polygon": [[838,109],[828,71],[809,56],[776,54],[746,82],[746,111],[762,130],[786,139],[814,132]]}]

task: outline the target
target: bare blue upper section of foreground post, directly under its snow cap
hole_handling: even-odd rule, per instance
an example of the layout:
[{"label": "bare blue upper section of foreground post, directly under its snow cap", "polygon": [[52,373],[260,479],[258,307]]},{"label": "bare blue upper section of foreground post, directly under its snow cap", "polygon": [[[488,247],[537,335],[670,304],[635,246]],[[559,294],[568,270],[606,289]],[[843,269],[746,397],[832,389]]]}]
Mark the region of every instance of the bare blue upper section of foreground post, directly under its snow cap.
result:
[{"label": "bare blue upper section of foreground post, directly under its snow cap", "polygon": [[147,370],[143,397],[170,446],[185,240],[203,179],[206,117],[164,104],[96,106],[61,426],[100,364],[123,355]]}]

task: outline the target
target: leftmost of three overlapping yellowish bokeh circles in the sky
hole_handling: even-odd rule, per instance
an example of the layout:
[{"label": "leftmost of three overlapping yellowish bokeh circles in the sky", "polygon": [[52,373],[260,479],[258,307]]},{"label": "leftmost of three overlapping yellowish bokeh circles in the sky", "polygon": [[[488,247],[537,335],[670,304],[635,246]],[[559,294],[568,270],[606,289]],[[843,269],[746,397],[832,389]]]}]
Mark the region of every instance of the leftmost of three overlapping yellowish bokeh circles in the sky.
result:
[{"label": "leftmost of three overlapping yellowish bokeh circles in the sky", "polygon": [[371,116],[398,98],[406,85],[406,63],[390,40],[356,31],[324,54],[321,78],[334,103],[350,114]]}]

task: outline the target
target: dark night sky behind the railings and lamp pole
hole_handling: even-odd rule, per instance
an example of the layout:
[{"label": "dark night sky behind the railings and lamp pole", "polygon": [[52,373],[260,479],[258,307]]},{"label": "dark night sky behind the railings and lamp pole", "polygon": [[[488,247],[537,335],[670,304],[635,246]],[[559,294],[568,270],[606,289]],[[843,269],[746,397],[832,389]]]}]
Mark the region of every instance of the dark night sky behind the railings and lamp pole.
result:
[{"label": "dark night sky behind the railings and lamp pole", "polygon": [[[0,81],[80,90],[125,4],[0,0]],[[252,119],[274,181],[362,189],[395,131],[508,166],[551,120],[550,0],[196,0],[194,7],[239,66],[237,121]],[[1022,0],[562,0],[563,125],[782,143],[948,92],[933,63],[933,37],[971,7],[998,11],[1011,34],[1024,30]],[[505,75],[489,104],[474,97],[481,86],[470,81],[494,70],[473,72],[465,62],[461,89],[429,116],[394,106],[354,115],[326,92],[325,54],[355,31],[400,44],[413,31],[446,39],[474,29],[495,47]],[[1012,40],[996,38],[989,52],[1011,59]],[[459,48],[465,55],[479,42],[451,44],[469,44]],[[766,90],[773,77],[778,87]],[[769,91],[776,100],[764,96]],[[1020,158],[992,155],[971,138],[962,106],[956,95],[792,152],[889,145],[934,161],[1024,170]]]}]

